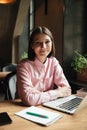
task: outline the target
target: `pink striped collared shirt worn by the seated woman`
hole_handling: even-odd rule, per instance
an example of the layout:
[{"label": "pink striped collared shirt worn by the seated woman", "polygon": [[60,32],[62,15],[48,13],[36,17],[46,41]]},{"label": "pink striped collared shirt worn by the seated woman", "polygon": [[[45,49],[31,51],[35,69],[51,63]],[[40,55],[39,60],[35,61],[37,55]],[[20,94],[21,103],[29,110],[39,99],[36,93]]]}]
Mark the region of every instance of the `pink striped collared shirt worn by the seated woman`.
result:
[{"label": "pink striped collared shirt worn by the seated woman", "polygon": [[35,61],[25,59],[19,62],[17,87],[19,97],[24,104],[38,105],[58,98],[58,90],[54,89],[54,84],[69,87],[56,58],[47,58],[44,64],[38,59]]}]

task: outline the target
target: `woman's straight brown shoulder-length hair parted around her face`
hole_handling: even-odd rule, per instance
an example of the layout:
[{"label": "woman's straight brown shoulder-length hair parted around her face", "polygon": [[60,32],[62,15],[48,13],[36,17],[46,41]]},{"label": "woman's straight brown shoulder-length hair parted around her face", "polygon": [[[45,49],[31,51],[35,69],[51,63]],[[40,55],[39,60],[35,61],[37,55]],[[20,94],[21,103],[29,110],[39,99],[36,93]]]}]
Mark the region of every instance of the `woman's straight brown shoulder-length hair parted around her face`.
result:
[{"label": "woman's straight brown shoulder-length hair parted around her face", "polygon": [[53,35],[52,33],[50,32],[50,30],[46,27],[37,27],[31,34],[30,38],[29,38],[29,45],[28,45],[28,59],[29,60],[34,60],[35,59],[35,52],[34,50],[32,49],[32,46],[33,46],[33,40],[34,40],[34,37],[37,35],[37,34],[40,34],[40,33],[43,33],[43,34],[46,34],[48,35],[50,38],[51,38],[51,41],[52,41],[52,50],[50,52],[50,54],[47,56],[47,57],[51,57],[51,56],[55,56],[55,45],[54,45],[54,38],[53,38]]}]

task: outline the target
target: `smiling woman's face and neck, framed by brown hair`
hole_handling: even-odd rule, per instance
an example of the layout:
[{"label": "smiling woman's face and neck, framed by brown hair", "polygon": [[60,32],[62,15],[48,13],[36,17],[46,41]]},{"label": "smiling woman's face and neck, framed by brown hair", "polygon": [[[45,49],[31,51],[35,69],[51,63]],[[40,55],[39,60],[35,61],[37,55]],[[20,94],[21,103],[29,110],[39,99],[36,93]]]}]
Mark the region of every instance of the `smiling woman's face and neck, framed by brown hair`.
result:
[{"label": "smiling woman's face and neck, framed by brown hair", "polygon": [[33,41],[33,50],[42,63],[45,62],[47,56],[52,50],[52,41],[51,38],[46,34],[37,34],[34,37]]}]

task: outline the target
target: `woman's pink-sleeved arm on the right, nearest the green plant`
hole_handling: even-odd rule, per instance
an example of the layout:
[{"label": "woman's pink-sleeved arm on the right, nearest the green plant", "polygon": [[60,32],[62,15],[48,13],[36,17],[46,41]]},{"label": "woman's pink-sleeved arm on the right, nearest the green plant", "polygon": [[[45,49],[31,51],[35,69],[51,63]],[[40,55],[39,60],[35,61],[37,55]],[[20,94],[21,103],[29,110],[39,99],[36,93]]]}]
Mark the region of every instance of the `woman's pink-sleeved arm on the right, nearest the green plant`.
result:
[{"label": "woman's pink-sleeved arm on the right, nearest the green plant", "polygon": [[54,83],[58,86],[58,97],[71,95],[71,87],[59,62],[54,58]]}]

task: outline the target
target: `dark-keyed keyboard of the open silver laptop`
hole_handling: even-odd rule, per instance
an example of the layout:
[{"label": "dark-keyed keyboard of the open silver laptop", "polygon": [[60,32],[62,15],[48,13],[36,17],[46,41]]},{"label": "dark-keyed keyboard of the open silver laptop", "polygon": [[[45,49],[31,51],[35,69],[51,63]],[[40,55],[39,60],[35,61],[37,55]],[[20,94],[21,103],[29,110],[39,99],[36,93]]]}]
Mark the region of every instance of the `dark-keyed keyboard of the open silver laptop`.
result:
[{"label": "dark-keyed keyboard of the open silver laptop", "polygon": [[81,103],[82,99],[79,97],[76,97],[74,99],[71,99],[65,103],[62,103],[56,107],[62,108],[62,109],[66,109],[66,110],[74,110],[75,108],[78,107],[78,105]]}]

